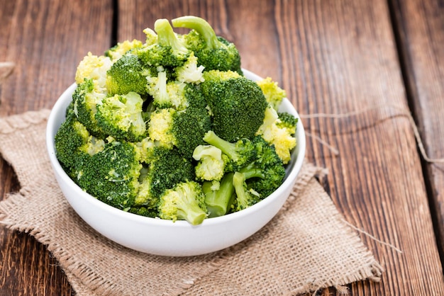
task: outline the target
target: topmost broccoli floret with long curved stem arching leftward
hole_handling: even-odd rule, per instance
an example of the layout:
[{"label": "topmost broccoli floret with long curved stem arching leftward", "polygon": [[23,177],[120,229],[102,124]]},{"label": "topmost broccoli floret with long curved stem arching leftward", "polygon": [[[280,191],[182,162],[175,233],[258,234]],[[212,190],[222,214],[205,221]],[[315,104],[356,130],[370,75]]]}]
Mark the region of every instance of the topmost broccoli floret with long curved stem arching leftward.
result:
[{"label": "topmost broccoli floret with long curved stem arching leftward", "polygon": [[209,70],[232,70],[242,74],[240,55],[232,42],[217,36],[211,25],[203,18],[196,16],[182,16],[172,20],[174,27],[192,29],[184,39],[187,47],[194,52],[199,66]]}]

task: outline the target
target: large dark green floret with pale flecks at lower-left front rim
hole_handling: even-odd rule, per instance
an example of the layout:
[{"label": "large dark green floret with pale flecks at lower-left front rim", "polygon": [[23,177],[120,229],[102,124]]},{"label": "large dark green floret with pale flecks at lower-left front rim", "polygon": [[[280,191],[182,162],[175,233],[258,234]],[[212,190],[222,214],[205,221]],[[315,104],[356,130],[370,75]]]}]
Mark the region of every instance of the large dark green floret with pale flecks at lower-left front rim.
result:
[{"label": "large dark green floret with pale flecks at lower-left front rim", "polygon": [[93,156],[84,154],[74,181],[104,203],[124,210],[134,204],[142,165],[135,145],[112,141]]}]

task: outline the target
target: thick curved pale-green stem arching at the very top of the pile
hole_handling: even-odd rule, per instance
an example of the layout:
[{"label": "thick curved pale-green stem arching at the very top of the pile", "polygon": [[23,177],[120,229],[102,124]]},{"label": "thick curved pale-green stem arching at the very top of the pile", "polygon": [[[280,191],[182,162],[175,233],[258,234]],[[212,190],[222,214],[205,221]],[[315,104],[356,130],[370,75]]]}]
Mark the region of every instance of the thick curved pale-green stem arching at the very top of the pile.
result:
[{"label": "thick curved pale-green stem arching at the very top of the pile", "polygon": [[204,38],[206,47],[209,49],[217,49],[225,46],[218,40],[211,25],[203,18],[197,16],[181,16],[174,18],[171,22],[176,28],[182,27],[195,30]]}]

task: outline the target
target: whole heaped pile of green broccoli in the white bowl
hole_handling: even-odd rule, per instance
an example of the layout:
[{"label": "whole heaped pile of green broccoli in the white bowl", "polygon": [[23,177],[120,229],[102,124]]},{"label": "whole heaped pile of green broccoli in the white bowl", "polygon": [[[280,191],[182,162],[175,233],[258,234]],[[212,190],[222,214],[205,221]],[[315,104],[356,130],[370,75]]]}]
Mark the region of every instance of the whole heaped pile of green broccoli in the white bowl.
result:
[{"label": "whole heaped pile of green broccoli in the white bowl", "polygon": [[[189,28],[189,33],[174,33]],[[155,22],[77,67],[55,135],[83,190],[136,215],[200,224],[243,210],[284,181],[297,118],[272,79],[243,76],[233,43],[202,18]]]}]

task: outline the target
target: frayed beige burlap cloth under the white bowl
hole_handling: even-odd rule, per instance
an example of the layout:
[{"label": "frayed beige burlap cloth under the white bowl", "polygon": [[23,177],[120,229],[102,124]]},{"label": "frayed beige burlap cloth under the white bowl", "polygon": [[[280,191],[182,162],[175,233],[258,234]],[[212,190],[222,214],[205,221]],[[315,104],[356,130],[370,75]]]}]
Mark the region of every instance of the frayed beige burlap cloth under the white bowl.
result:
[{"label": "frayed beige burlap cloth under the white bowl", "polygon": [[0,220],[47,246],[77,295],[296,295],[358,280],[382,267],[304,164],[276,217],[239,244],[170,258],[126,249],[91,229],[59,190],[45,149],[49,110],[0,118],[0,153],[21,190],[0,203]]}]

